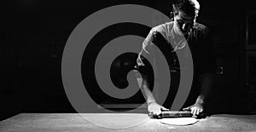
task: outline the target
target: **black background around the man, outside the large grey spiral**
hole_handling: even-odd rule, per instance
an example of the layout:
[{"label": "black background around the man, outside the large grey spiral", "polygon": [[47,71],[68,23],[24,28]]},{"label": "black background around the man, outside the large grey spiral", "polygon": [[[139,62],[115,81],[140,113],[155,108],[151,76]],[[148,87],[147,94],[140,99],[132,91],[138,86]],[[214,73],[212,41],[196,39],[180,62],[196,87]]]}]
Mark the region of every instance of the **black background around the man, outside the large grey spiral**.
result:
[{"label": "black background around the man, outside the large grey spiral", "polygon": [[[211,29],[212,50],[218,69],[223,68],[215,75],[209,109],[255,112],[256,41],[251,29],[256,29],[256,15],[254,19],[247,15],[256,11],[253,2],[199,2],[198,21]],[[124,3],[146,5],[164,14],[170,13],[172,5],[171,0],[6,1],[0,20],[0,119],[20,112],[75,112],[61,82],[61,55],[67,38],[86,16]]]}]

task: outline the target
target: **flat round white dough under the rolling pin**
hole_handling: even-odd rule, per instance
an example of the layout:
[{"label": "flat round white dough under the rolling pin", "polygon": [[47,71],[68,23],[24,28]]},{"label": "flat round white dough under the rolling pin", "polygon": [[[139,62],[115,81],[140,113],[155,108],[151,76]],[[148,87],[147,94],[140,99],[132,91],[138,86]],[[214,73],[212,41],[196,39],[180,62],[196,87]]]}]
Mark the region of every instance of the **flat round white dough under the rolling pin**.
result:
[{"label": "flat round white dough under the rolling pin", "polygon": [[196,118],[162,118],[160,123],[172,124],[172,125],[189,125],[198,122]]}]

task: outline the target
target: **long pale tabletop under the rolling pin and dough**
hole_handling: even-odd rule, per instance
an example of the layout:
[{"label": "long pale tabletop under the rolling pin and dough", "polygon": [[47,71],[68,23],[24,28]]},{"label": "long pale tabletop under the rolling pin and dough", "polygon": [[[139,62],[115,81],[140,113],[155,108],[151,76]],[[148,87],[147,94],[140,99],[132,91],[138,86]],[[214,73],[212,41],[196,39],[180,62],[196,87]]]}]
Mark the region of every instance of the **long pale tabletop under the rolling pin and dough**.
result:
[{"label": "long pale tabletop under the rolling pin and dough", "polygon": [[[147,119],[133,127],[110,129],[90,123],[84,116],[113,124],[113,127],[137,122],[140,118]],[[1,121],[0,131],[256,131],[256,115],[218,114],[202,118],[192,125],[175,126],[148,118],[144,113],[20,113]]]}]

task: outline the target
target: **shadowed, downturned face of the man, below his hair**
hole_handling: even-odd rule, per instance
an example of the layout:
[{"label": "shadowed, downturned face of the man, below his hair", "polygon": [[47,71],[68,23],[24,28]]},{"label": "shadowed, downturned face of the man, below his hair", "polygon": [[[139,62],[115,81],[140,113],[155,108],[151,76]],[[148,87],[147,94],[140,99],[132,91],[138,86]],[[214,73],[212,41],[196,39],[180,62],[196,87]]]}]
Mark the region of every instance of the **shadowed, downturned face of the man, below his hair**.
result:
[{"label": "shadowed, downturned face of the man, below his hair", "polygon": [[189,32],[190,28],[194,25],[194,20],[194,16],[189,16],[181,11],[174,17],[175,24],[183,35]]}]

